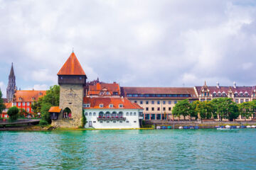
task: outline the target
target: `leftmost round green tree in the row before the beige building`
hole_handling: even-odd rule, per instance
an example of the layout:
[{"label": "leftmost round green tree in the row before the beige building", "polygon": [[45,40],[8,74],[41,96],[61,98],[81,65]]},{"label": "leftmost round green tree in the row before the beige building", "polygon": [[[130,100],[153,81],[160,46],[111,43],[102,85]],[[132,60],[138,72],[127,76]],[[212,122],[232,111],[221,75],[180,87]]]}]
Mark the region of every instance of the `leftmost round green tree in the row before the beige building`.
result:
[{"label": "leftmost round green tree in the row before the beige building", "polygon": [[175,116],[178,117],[178,119],[180,119],[181,115],[183,115],[184,120],[186,120],[186,116],[190,115],[190,103],[188,101],[188,99],[182,100],[182,101],[178,101],[178,103],[176,103],[176,105],[174,106],[174,110],[173,110],[173,114]]}]

